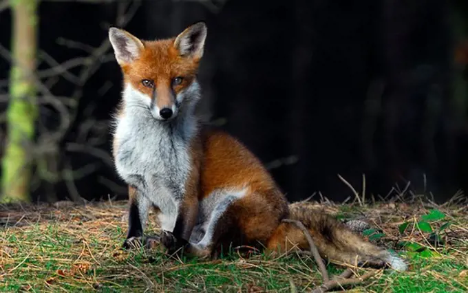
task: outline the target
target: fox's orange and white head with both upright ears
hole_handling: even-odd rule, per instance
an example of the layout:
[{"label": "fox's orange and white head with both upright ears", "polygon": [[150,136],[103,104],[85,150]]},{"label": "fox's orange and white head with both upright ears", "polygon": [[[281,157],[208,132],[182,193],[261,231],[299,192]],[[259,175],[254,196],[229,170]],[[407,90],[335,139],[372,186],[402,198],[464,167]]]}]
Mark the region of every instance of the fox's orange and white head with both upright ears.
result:
[{"label": "fox's orange and white head with both upright ears", "polygon": [[109,28],[109,41],[123,72],[125,107],[172,120],[200,97],[198,65],[206,25],[195,23],[171,39],[143,41],[125,30]]}]

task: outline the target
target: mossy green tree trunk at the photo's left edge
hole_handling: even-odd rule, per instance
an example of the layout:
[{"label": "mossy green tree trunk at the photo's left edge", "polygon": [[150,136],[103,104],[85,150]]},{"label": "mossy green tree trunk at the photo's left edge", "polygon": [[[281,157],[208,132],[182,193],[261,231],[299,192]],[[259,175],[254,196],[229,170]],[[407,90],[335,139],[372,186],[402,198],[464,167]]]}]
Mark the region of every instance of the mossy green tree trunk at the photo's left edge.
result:
[{"label": "mossy green tree trunk at the photo's left edge", "polygon": [[[13,17],[8,142],[3,157],[0,202],[29,202],[32,140],[37,116],[34,70],[37,0],[10,1]],[[29,150],[29,151],[28,151]]]}]

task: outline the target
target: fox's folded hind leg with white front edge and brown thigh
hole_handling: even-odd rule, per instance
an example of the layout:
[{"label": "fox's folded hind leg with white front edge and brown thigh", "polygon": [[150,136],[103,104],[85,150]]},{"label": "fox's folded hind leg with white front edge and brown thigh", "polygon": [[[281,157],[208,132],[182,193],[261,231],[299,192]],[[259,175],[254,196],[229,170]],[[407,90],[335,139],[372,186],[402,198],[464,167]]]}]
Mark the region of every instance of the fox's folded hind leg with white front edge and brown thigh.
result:
[{"label": "fox's folded hind leg with white front edge and brown thigh", "polygon": [[[266,243],[288,213],[286,199],[275,195],[275,190],[217,191],[206,199],[206,206],[213,208],[205,210],[203,203],[200,208],[204,235],[197,243],[184,245],[184,252],[200,258],[211,257],[220,245]],[[161,242],[167,237],[169,245],[164,246],[170,250],[171,235],[164,235],[167,233],[162,234]]]}]

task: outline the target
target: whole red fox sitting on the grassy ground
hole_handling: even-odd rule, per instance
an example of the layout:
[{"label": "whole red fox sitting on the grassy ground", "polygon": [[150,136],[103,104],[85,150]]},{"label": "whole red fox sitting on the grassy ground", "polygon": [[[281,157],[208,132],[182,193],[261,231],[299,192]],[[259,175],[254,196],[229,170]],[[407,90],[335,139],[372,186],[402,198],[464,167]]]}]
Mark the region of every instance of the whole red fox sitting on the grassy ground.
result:
[{"label": "whole red fox sitting on the grassy ground", "polygon": [[123,73],[112,155],[129,186],[124,246],[147,239],[143,230],[149,208],[156,210],[164,248],[183,248],[201,258],[233,243],[272,253],[292,246],[308,250],[303,232],[282,221],[296,219],[308,228],[322,257],[406,270],[403,259],[361,239],[330,215],[289,204],[246,146],[200,122],[195,115],[201,98],[197,75],[206,35],[204,22],[156,41],[109,28]]}]

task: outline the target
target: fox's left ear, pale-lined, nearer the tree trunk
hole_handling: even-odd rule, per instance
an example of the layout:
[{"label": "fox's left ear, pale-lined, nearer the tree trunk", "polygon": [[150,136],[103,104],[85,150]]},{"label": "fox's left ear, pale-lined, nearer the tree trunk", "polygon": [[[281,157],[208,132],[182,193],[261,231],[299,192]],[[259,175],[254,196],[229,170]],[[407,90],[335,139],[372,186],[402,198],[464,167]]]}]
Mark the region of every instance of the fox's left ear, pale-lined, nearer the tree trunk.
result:
[{"label": "fox's left ear, pale-lined, nearer the tree trunk", "polygon": [[144,47],[136,36],[118,28],[109,28],[109,41],[120,65],[135,61]]}]

